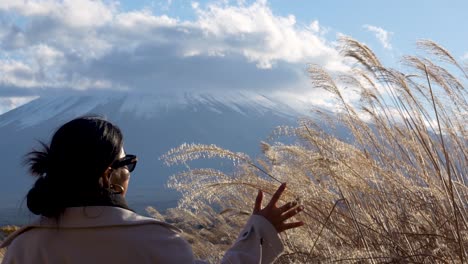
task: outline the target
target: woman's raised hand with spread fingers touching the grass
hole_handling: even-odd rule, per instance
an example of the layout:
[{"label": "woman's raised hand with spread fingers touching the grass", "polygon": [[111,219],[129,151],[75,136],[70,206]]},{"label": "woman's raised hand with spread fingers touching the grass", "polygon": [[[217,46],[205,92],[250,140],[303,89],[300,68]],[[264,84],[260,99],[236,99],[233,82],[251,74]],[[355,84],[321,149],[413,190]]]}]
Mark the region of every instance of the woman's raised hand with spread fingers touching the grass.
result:
[{"label": "woman's raised hand with spread fingers touching the grass", "polygon": [[276,206],[276,203],[279,201],[285,189],[286,183],[281,184],[275,194],[273,194],[268,205],[263,209],[261,209],[263,192],[259,190],[253,211],[253,214],[261,215],[270,221],[278,233],[304,225],[303,222],[286,223],[289,218],[295,216],[304,209],[302,206],[297,206],[296,201],[286,203],[280,207]]}]

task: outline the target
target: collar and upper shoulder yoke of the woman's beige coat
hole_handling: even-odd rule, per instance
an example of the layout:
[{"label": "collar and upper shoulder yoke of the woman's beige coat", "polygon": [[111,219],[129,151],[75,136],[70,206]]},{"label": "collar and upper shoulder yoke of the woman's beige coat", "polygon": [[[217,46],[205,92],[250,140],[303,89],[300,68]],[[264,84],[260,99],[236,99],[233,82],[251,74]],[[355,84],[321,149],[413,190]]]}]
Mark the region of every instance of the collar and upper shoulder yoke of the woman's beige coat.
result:
[{"label": "collar and upper shoulder yoke of the woman's beige coat", "polygon": [[8,236],[0,245],[7,247],[20,234],[33,228],[74,229],[95,227],[118,227],[131,225],[163,225],[177,233],[182,231],[177,227],[158,221],[154,218],[138,215],[130,210],[113,206],[69,207],[59,221],[53,218],[41,217],[33,223],[23,226]]}]

